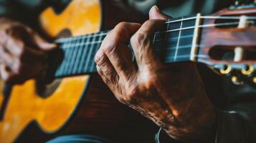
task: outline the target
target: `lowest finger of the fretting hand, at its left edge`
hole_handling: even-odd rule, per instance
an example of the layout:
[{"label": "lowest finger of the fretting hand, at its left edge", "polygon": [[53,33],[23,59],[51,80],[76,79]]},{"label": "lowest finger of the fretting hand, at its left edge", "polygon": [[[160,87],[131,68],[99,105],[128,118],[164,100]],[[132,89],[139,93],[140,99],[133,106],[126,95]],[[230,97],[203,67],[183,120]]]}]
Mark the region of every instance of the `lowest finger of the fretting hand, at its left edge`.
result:
[{"label": "lowest finger of the fretting hand, at its left edge", "polygon": [[[118,82],[119,76],[116,73],[113,65],[110,63],[109,59],[103,51],[98,51],[98,56],[95,56],[95,63],[103,71],[103,74],[108,79],[108,84],[116,84]],[[108,85],[107,84],[107,85]]]}]

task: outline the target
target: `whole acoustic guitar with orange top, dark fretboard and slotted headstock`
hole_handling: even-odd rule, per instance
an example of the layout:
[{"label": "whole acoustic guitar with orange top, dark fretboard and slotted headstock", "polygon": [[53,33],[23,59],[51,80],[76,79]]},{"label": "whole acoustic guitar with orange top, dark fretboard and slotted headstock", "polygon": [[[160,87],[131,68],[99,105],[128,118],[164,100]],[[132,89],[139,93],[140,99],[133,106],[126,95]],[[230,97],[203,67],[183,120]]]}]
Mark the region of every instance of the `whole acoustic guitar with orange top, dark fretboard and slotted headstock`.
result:
[{"label": "whole acoustic guitar with orange top, dark fretboard and slotted headstock", "polygon": [[[70,7],[80,11],[82,15],[77,16],[77,13],[74,14],[74,11],[68,9]],[[94,11],[93,15],[89,11]],[[65,19],[67,14],[72,16]],[[96,72],[94,56],[108,34],[108,31],[99,31],[102,22],[100,14],[100,3],[96,0],[72,1],[58,16],[52,9],[42,13],[42,27],[50,36],[57,36],[60,31],[68,33],[63,29],[72,31],[73,36],[56,39],[54,42],[58,48],[49,54],[47,77],[57,80],[44,88],[35,80],[31,80],[21,86],[14,86],[11,92],[7,92],[10,96],[0,122],[0,142],[14,141],[32,121],[36,121],[46,133],[57,132],[75,114],[83,92],[88,89],[86,87],[90,79],[89,76],[80,75]],[[255,85],[255,21],[254,4],[234,5],[211,16],[196,14],[169,19],[162,29],[156,31],[152,42],[156,54],[163,62],[201,63],[218,74],[231,76],[234,84],[247,82]],[[82,27],[77,27],[72,22],[77,22]],[[93,32],[96,33],[89,34]],[[133,53],[132,50],[131,52]],[[82,121],[83,124],[76,124],[74,128],[108,129],[106,124],[113,125],[120,120],[116,119],[121,117],[122,113],[117,111],[118,103],[114,102],[113,98],[101,95],[86,95],[85,107],[80,108],[82,111],[76,115],[81,117],[80,123]],[[110,116],[105,116],[105,112]],[[93,124],[95,122],[97,124]],[[74,121],[72,123],[75,124]]]}]

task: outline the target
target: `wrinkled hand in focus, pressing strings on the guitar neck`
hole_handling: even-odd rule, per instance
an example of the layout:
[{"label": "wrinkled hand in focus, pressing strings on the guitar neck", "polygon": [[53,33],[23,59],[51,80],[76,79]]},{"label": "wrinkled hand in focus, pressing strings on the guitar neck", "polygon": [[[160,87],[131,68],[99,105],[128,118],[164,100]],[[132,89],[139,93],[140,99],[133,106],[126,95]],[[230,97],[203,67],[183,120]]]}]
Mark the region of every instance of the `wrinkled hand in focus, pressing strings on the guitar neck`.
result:
[{"label": "wrinkled hand in focus, pressing strings on the guitar neck", "polygon": [[[144,24],[120,23],[105,37],[95,56],[98,73],[115,97],[141,112],[174,139],[214,140],[216,114],[192,63],[163,64],[151,36],[167,16],[156,6]],[[136,64],[131,61],[131,40]]]}]

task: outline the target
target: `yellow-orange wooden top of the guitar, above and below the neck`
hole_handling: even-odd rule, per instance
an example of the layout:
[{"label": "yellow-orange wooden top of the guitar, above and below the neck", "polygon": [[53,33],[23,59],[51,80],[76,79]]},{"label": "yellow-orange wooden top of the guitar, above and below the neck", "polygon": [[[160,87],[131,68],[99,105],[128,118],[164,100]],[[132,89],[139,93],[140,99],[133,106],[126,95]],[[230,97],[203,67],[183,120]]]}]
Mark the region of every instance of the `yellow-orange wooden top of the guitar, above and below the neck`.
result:
[{"label": "yellow-orange wooden top of the guitar, above and below the neck", "polygon": [[[74,0],[57,15],[52,8],[39,17],[42,29],[49,36],[57,36],[63,29],[72,35],[90,34],[100,30],[101,9],[99,0]],[[62,127],[80,101],[89,76],[62,79],[50,97],[41,98],[35,91],[34,80],[14,86],[4,120],[0,122],[0,142],[14,142],[22,130],[36,120],[44,132],[56,132]],[[0,82],[3,89],[3,82]],[[0,104],[3,95],[0,95]]]}]

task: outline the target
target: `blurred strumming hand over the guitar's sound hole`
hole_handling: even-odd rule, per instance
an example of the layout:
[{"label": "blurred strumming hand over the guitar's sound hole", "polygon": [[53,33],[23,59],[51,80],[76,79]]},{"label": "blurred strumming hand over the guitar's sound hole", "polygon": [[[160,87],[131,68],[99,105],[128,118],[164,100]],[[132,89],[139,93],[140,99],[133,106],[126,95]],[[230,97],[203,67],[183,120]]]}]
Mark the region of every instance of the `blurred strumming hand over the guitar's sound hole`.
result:
[{"label": "blurred strumming hand over the guitar's sound hole", "polygon": [[52,49],[35,31],[19,22],[0,19],[0,74],[11,84],[42,76],[47,68],[46,51]]}]

